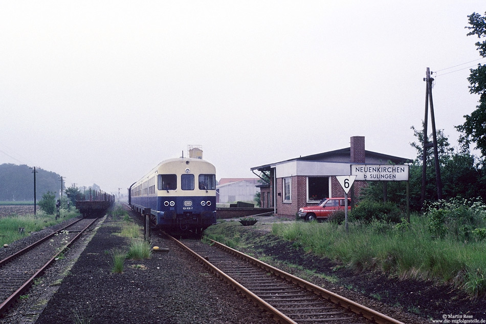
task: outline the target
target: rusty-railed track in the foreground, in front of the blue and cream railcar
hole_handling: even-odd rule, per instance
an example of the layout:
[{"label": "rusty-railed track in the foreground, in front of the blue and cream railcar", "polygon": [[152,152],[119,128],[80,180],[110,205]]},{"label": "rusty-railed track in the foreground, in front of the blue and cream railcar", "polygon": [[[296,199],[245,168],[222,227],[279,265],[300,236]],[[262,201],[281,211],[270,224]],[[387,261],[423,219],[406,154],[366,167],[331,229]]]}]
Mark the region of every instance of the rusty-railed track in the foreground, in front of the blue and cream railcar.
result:
[{"label": "rusty-railed track in the foreground, in front of the blue and cream railcar", "polygon": [[403,324],[218,242],[170,237],[281,323]]}]

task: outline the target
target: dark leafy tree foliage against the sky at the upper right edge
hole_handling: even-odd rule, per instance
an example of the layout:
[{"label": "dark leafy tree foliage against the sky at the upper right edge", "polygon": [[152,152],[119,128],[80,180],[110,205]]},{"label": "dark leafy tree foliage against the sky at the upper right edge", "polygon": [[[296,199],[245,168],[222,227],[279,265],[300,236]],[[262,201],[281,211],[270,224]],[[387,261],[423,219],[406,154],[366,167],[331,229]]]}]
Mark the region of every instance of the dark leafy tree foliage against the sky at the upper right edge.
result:
[{"label": "dark leafy tree foliage against the sky at the upper right edge", "polygon": [[[476,48],[479,55],[486,57],[486,13],[481,16],[473,12],[469,17],[469,25],[466,26],[470,30],[468,36],[476,35],[480,41],[476,42]],[[469,92],[479,95],[479,105],[471,115],[464,116],[466,121],[459,126],[456,126],[458,131],[462,134],[462,143],[469,145],[470,142],[476,144],[476,147],[481,151],[483,156],[486,155],[486,65],[478,64],[477,69],[471,69],[471,74],[468,78]]]}]

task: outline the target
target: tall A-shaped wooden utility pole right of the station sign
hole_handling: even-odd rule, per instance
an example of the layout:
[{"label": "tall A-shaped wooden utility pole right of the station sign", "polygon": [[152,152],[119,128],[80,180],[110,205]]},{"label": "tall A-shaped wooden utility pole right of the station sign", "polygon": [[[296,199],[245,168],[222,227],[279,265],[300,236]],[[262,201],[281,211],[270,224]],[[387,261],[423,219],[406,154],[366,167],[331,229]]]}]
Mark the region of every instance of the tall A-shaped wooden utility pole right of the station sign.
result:
[{"label": "tall A-shaped wooden utility pole right of the station sign", "polygon": [[[427,68],[427,74],[424,78],[426,81],[426,89],[425,89],[425,118],[424,118],[424,149],[423,149],[423,165],[422,165],[422,203],[425,202],[425,187],[427,184],[427,148],[433,147],[434,148],[434,160],[435,160],[435,182],[437,185],[437,199],[442,199],[442,181],[440,180],[440,163],[439,163],[439,154],[437,149],[437,132],[435,129],[435,116],[434,116],[434,103],[432,100],[432,81],[433,78],[430,77],[430,69]],[[429,143],[427,138],[427,124],[428,124],[428,115],[429,115],[429,105],[430,105],[430,122],[432,124],[432,138],[433,142]]]}]

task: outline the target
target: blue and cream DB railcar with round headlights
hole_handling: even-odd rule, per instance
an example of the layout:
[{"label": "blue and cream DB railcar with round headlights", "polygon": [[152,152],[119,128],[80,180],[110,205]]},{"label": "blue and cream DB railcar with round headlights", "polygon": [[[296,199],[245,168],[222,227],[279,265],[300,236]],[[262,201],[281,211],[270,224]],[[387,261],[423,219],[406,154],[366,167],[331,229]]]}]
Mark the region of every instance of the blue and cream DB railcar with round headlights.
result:
[{"label": "blue and cream DB railcar with round headlights", "polygon": [[216,224],[216,168],[192,158],[161,162],[128,189],[131,208],[150,208],[152,222],[167,231],[202,231]]}]

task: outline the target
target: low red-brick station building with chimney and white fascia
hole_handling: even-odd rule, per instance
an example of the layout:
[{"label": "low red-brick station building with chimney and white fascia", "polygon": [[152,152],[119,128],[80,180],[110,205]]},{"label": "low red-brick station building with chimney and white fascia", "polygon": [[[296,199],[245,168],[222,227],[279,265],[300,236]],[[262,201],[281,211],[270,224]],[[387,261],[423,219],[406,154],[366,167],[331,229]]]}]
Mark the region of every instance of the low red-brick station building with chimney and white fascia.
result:
[{"label": "low red-brick station building with chimney and white fascia", "polygon": [[[300,207],[317,205],[324,198],[344,197],[336,176],[350,175],[351,164],[411,162],[365,150],[364,136],[353,136],[350,143],[347,148],[250,168],[255,175],[259,176],[259,171],[270,179],[267,185],[259,186],[261,205],[273,207],[276,215],[294,218]],[[365,181],[355,181],[349,196],[359,196],[366,185]]]}]

